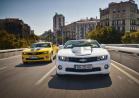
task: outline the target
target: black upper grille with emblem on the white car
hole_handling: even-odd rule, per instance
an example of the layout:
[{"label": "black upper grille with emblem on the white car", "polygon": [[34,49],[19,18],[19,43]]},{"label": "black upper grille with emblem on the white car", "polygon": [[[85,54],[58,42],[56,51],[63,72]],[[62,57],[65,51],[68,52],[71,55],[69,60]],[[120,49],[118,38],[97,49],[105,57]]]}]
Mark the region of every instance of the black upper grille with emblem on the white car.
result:
[{"label": "black upper grille with emblem on the white car", "polygon": [[[84,59],[84,61],[83,61]],[[88,58],[74,58],[69,57],[69,62],[77,62],[77,63],[88,63],[97,61],[97,57],[88,57]]]}]

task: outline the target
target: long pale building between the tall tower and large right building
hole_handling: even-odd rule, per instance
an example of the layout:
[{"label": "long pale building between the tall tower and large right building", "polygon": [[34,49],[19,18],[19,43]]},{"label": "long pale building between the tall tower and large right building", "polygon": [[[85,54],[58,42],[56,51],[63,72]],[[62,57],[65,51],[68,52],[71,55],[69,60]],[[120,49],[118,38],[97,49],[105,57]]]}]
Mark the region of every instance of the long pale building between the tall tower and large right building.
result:
[{"label": "long pale building between the tall tower and large right building", "polygon": [[85,39],[86,33],[94,30],[99,19],[81,19],[79,21],[68,24],[64,27],[64,36],[67,39]]}]

